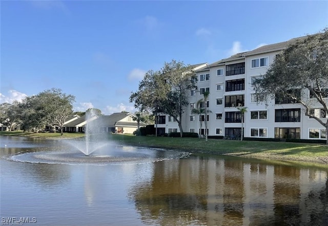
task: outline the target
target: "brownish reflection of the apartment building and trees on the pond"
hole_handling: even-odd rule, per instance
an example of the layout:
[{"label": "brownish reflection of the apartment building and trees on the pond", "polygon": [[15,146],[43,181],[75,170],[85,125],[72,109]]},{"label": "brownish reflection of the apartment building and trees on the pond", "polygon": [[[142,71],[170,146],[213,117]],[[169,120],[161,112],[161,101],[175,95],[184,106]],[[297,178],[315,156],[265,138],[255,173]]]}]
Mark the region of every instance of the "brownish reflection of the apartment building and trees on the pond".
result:
[{"label": "brownish reflection of the apartment building and trees on the pond", "polygon": [[149,224],[324,225],[327,183],[320,169],[195,157],[156,164],[129,197]]}]

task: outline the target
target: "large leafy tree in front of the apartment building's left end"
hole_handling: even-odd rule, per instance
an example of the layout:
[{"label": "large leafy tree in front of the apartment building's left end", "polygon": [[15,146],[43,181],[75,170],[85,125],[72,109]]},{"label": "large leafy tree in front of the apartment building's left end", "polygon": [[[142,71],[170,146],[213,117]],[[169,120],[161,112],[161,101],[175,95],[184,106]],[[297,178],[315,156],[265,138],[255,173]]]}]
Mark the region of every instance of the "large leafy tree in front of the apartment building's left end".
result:
[{"label": "large leafy tree in front of the apartment building's left end", "polygon": [[138,91],[130,96],[130,102],[134,102],[140,111],[152,112],[155,116],[172,116],[182,137],[181,117],[189,104],[189,91],[196,88],[196,82],[192,66],[172,60],[165,63],[160,71],[148,71],[140,81]]}]

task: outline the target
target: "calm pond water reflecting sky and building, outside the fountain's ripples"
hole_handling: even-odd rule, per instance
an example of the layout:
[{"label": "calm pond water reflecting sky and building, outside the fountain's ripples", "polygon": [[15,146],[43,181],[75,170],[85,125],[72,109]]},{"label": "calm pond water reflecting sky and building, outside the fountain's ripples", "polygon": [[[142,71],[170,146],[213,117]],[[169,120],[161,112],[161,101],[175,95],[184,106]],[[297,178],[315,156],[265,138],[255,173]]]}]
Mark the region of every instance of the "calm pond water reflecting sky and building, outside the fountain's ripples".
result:
[{"label": "calm pond water reflecting sky and building, outside the fountain's ripples", "polygon": [[2,224],[13,217],[36,218],[24,225],[328,224],[324,165],[220,156],[139,164],[27,163],[10,157],[65,147],[51,140],[0,139]]}]

